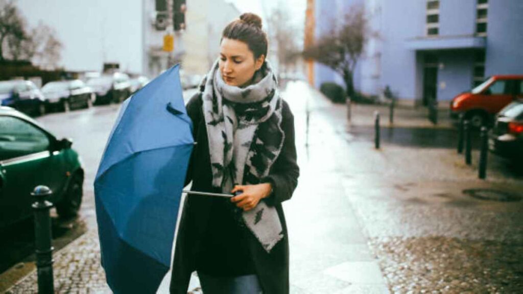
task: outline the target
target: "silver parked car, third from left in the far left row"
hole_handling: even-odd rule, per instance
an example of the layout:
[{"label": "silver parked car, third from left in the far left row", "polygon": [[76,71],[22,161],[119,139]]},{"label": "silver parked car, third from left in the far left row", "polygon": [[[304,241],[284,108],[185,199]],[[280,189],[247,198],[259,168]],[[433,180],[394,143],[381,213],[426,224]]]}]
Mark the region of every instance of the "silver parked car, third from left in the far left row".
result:
[{"label": "silver parked car, third from left in the far left row", "polygon": [[129,76],[124,73],[113,73],[90,78],[87,86],[96,93],[96,104],[120,103],[131,94]]}]

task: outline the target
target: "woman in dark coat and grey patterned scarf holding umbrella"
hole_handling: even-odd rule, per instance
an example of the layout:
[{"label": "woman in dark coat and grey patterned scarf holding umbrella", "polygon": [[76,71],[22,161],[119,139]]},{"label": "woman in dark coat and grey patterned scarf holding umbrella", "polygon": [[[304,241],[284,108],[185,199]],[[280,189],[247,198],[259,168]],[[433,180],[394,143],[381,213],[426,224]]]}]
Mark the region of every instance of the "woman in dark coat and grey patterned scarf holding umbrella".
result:
[{"label": "woman in dark coat and grey patterned scarf holding umbrella", "polygon": [[194,270],[205,294],[289,292],[281,202],[299,168],[293,116],[265,56],[261,19],[243,14],[223,30],[220,58],[187,104],[197,144],[186,184],[237,196],[186,198],[171,293],[187,293]]}]

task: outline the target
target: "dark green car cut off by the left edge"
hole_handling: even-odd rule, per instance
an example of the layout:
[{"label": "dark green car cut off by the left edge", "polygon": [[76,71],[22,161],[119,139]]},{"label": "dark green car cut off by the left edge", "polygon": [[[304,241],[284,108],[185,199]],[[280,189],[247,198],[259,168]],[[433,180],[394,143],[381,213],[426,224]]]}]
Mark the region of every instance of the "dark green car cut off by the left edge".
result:
[{"label": "dark green car cut off by the left edge", "polygon": [[72,142],[58,140],[21,112],[0,107],[0,228],[32,215],[38,185],[60,217],[75,216],[82,203],[84,169]]}]

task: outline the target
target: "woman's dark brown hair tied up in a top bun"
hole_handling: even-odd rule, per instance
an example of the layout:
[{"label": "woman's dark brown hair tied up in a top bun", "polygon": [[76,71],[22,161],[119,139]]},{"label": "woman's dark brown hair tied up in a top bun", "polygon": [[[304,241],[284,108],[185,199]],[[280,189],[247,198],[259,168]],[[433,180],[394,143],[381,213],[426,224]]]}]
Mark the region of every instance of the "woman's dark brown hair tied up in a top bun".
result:
[{"label": "woman's dark brown hair tied up in a top bun", "polygon": [[262,54],[267,58],[267,35],[261,29],[261,18],[254,13],[244,13],[240,19],[233,20],[223,29],[223,38],[246,43],[255,60]]}]

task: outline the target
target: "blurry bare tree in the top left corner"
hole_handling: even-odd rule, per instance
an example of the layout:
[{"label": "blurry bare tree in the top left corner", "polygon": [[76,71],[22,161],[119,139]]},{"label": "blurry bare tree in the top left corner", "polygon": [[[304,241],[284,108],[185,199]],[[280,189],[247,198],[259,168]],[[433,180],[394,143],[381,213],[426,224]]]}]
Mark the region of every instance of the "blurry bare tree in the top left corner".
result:
[{"label": "blurry bare tree in the top left corner", "polygon": [[9,44],[16,47],[24,40],[27,40],[25,20],[14,1],[0,0],[0,61],[5,60],[5,51],[12,51]]}]

